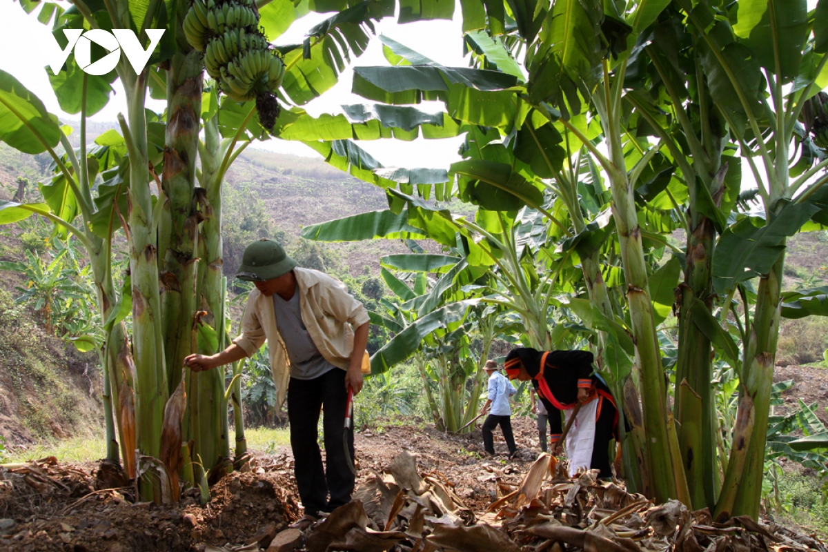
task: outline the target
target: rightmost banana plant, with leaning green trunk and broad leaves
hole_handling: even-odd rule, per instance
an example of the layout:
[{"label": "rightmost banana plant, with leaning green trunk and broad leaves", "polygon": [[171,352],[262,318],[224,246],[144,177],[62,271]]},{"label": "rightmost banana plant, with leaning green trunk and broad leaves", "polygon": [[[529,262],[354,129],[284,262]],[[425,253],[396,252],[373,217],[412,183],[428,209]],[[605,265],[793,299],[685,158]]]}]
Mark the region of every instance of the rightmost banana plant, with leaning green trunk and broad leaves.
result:
[{"label": "rightmost banana plant, with leaning green trunk and broad leaves", "polygon": [[[740,2],[732,26],[716,17],[718,7],[706,2],[678,5],[702,50],[700,63],[711,83],[711,100],[739,143],[763,203],[763,218],[739,217],[724,230],[713,262],[714,288],[724,295],[733,295],[748,276],[759,276],[753,319],[746,324],[743,342],[744,414],[738,416],[753,423],[747,422],[742,431],[745,446],[731,449],[715,508],[719,518],[734,513],[755,517],[762,493],[785,240],[806,224],[824,223],[826,216],[828,161],[808,155],[807,143],[802,155],[790,160],[799,142],[802,109],[828,85],[828,35],[817,23],[828,5],[819,2],[809,13],[806,2]],[[810,141],[808,137],[804,142]],[[748,236],[758,238],[758,247],[739,252]]]}]

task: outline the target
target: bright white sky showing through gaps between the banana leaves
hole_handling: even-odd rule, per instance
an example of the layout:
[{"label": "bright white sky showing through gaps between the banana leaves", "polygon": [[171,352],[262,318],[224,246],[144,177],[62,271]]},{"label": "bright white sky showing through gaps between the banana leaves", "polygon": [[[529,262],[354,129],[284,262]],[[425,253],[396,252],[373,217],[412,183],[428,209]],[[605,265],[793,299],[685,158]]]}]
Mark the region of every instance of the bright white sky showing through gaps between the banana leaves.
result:
[{"label": "bright white sky showing through gaps between the banana leaves", "polygon": [[[460,4],[456,12],[460,13]],[[282,35],[277,44],[296,44],[301,42],[305,33],[316,23],[330,17],[330,14],[310,13],[291,26],[291,29]],[[406,46],[418,50],[421,54],[437,60],[447,66],[467,66],[468,61],[463,58],[463,41],[460,31],[460,21],[446,22],[417,22],[407,25],[397,25],[392,18],[380,22],[378,33],[390,36]],[[21,83],[34,92],[46,105],[46,108],[57,114],[61,119],[78,119],[78,115],[68,115],[60,110],[55,94],[46,76],[48,68],[47,41],[51,41],[51,26],[42,25],[37,21],[36,12],[26,15],[17,2],[0,1],[0,69],[13,74]],[[388,65],[383,56],[382,44],[378,40],[371,41],[368,50],[354,60],[354,65]],[[339,84],[320,98],[308,103],[305,108],[312,115],[321,113],[342,113],[341,104],[368,103],[368,100],[351,94],[352,72],[345,70],[340,75]],[[113,122],[116,115],[126,111],[126,99],[120,83],[115,83],[115,95],[99,113],[91,120],[98,122]],[[147,107],[162,111],[165,104],[149,99]],[[442,104],[418,106],[423,111],[437,112],[442,110]],[[462,138],[450,140],[417,140],[416,142],[398,142],[394,140],[379,140],[375,142],[359,142],[359,145],[375,156],[385,166],[430,166],[448,167],[454,161],[460,161],[457,149]],[[270,140],[258,142],[255,146],[280,153],[292,153],[300,156],[318,157],[319,154],[309,147],[298,142],[284,140]]]}]

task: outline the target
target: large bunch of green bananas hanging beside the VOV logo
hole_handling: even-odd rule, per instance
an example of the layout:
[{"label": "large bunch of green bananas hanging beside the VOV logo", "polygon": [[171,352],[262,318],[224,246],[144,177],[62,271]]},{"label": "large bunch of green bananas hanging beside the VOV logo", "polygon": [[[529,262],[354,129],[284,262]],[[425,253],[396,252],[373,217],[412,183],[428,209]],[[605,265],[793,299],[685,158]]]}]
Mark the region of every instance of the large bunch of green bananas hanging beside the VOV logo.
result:
[{"label": "large bunch of green bananas hanging beside the VOV logo", "polygon": [[270,129],[279,112],[273,93],[285,65],[258,22],[254,0],[192,0],[183,27],[190,46],[204,52],[207,74],[219,89],[238,102],[256,99],[262,125]]}]

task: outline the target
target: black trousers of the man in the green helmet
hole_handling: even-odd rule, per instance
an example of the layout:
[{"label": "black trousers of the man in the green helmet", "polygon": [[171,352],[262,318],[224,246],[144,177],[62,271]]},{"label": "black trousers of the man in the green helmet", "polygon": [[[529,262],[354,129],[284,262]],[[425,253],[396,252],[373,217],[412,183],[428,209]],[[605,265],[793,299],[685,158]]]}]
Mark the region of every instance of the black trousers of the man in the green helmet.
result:
[{"label": "black trousers of the man in the green helmet", "polygon": [[[295,460],[293,473],[305,513],[311,516],[320,511],[333,511],[350,502],[354,492],[354,473],[345,458],[344,425],[345,372],[335,368],[312,380],[291,377],[287,388],[287,417],[291,422],[291,448]],[[322,430],[325,439],[325,463],[317,440],[319,413],[325,407]],[[354,428],[348,431],[348,449],[354,458]],[[328,493],[330,492],[330,500]]]}]

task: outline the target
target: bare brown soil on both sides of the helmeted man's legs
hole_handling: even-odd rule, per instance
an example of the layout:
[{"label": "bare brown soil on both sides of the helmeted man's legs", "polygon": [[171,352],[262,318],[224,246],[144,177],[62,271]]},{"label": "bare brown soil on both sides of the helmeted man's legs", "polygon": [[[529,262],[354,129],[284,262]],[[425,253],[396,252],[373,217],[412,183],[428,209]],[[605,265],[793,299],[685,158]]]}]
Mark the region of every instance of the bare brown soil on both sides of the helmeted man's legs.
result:
[{"label": "bare brown soil on both sides of the helmeted man's legs", "polygon": [[[534,421],[514,418],[513,429],[522,453],[513,461],[506,458],[498,431],[499,455],[479,458],[474,452],[482,448],[479,427],[462,436],[412,425],[388,427],[383,434],[363,432],[355,443],[357,486],[408,450],[421,473],[443,474],[469,506],[482,510],[497,496],[498,482],[517,484],[537,458]],[[156,506],[134,503],[132,488],[96,491],[95,463],[41,461],[40,468],[30,463],[28,468],[0,469],[0,550],[203,551],[208,545],[245,545],[257,536],[266,546],[269,539],[262,535],[284,530],[301,516],[290,449],[277,452],[254,458],[248,473],[223,478],[205,506],[188,492],[175,506]]]}]

